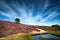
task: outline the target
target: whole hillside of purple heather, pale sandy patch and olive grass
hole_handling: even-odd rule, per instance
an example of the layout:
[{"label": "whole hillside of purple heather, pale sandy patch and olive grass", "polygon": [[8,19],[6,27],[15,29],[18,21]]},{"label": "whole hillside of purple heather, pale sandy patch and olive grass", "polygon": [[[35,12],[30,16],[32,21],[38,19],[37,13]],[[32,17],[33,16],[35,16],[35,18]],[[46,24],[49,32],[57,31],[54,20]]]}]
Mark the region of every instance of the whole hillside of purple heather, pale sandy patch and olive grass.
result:
[{"label": "whole hillside of purple heather, pale sandy patch and olive grass", "polygon": [[26,24],[16,24],[15,22],[0,20],[0,37],[17,34],[17,33],[32,33],[32,34],[54,34],[60,36],[60,30],[51,26],[33,26]]}]

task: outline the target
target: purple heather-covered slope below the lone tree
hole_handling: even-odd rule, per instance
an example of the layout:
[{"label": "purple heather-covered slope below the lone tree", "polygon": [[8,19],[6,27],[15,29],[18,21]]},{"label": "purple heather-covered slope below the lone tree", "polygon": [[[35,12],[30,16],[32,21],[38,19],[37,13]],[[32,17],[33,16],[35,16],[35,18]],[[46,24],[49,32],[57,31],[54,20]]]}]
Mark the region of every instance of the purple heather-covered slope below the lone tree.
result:
[{"label": "purple heather-covered slope below the lone tree", "polygon": [[5,36],[15,33],[28,33],[35,30],[35,27],[25,24],[16,24],[15,22],[0,20],[0,36]]}]

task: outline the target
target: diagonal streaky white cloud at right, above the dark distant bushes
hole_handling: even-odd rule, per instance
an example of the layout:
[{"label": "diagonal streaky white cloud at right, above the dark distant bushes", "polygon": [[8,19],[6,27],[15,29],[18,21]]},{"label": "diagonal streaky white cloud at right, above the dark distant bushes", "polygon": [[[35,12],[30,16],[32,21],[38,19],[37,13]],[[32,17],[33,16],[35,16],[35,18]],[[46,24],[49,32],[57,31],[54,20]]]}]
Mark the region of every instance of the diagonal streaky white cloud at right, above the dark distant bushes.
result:
[{"label": "diagonal streaky white cloud at right, above the dark distant bushes", "polygon": [[[48,15],[46,18],[42,18],[41,22],[45,22],[47,20],[51,20],[53,19],[54,17],[57,17],[58,15],[60,15],[59,13],[57,13],[57,10],[59,8],[57,8],[58,6],[55,6],[55,10],[54,11],[51,11],[53,8],[51,8],[50,10],[48,10],[49,12],[46,12],[45,15]],[[49,13],[49,14],[48,14]]]}]

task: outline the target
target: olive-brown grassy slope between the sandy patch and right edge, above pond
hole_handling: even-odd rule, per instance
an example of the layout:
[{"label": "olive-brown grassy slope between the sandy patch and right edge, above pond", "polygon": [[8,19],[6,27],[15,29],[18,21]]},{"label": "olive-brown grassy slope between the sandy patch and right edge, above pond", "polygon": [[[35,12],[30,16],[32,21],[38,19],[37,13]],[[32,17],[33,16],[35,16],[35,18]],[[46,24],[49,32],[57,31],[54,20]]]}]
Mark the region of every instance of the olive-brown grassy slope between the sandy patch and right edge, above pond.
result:
[{"label": "olive-brown grassy slope between the sandy patch and right edge, above pond", "polygon": [[38,28],[48,31],[47,34],[54,34],[54,35],[60,36],[60,30],[57,30],[57,28],[55,28],[55,27],[51,27],[51,26],[40,27],[39,26]]}]

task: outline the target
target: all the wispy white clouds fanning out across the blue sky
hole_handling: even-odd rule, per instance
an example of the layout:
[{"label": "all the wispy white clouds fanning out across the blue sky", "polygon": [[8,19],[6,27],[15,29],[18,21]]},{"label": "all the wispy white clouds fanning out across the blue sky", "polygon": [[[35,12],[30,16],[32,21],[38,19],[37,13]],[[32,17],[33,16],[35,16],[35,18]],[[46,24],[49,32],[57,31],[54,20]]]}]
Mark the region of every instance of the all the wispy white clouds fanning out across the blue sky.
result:
[{"label": "all the wispy white clouds fanning out across the blue sky", "polygon": [[[58,9],[56,9],[55,11],[51,11],[53,9],[51,8],[47,10],[48,12],[44,13],[45,9],[41,7],[41,11],[43,12],[42,13],[40,9],[35,10],[36,8],[34,6],[36,5],[30,4],[27,6],[24,1],[22,2],[23,5],[20,5],[18,1],[16,2],[16,4],[13,1],[11,1],[11,5],[8,5],[3,1],[0,2],[0,4],[5,9],[8,9],[7,12],[0,11],[0,15],[8,17],[10,18],[10,20],[19,18],[21,20],[21,23],[24,23],[24,24],[49,25],[51,21],[49,23],[47,23],[46,21],[51,20],[54,17],[59,15],[59,13],[57,13]],[[47,8],[48,6],[49,6],[48,0],[46,0],[44,7]],[[15,9],[11,7],[14,7],[17,11],[15,11]],[[57,8],[57,7],[54,7],[54,8]],[[35,11],[37,14],[33,16],[33,13],[35,14]],[[43,16],[46,16],[46,17],[43,17]]]}]

